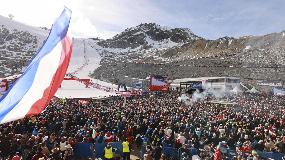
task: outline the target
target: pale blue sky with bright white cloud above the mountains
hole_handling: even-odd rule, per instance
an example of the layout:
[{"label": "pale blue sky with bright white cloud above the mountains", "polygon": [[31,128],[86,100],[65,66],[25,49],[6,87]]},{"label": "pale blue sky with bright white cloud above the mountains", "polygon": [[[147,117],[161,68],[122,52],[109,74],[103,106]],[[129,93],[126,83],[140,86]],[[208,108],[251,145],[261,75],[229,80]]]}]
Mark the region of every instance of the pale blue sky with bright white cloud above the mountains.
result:
[{"label": "pale blue sky with bright white cloud above the mountains", "polygon": [[[78,37],[110,38],[125,28],[155,22],[172,28],[189,28],[207,39],[222,36],[264,35],[285,30],[285,1],[9,1],[1,2],[0,15],[33,26],[50,25],[62,6],[72,13],[72,31]],[[36,13],[36,14],[35,14]],[[32,15],[32,16],[31,16]],[[1,24],[1,22],[0,22]]]}]

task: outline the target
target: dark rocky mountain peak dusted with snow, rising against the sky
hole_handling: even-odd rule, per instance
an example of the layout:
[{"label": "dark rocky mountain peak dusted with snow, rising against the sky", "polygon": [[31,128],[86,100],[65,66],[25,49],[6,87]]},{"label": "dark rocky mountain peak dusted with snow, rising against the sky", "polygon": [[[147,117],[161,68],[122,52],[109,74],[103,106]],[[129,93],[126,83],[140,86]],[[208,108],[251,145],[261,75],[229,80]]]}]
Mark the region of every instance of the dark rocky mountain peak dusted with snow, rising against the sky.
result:
[{"label": "dark rocky mountain peak dusted with snow, rising against the sky", "polygon": [[152,48],[157,45],[166,47],[177,46],[190,40],[201,37],[195,35],[188,28],[163,27],[156,23],[142,23],[138,26],[125,29],[113,38],[103,40],[98,44],[109,48]]}]

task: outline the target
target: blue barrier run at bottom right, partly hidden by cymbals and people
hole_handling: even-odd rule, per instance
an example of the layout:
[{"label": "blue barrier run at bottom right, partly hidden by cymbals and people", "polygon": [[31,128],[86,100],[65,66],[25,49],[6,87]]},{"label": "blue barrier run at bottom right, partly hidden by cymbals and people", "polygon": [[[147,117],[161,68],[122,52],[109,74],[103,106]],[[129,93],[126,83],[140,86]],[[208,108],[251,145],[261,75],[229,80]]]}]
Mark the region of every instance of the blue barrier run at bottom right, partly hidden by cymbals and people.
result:
[{"label": "blue barrier run at bottom right, partly hidden by cymbals and people", "polygon": [[[178,157],[179,159],[181,158],[181,154],[183,152],[185,152],[185,149],[184,148],[179,148],[179,153],[178,153]],[[188,148],[188,151],[189,151],[189,156],[192,157],[193,155],[199,155],[200,152],[198,149],[192,149],[192,148]],[[235,153],[236,155],[238,155],[238,153],[236,151],[230,151],[228,150],[227,153],[221,153],[222,156],[228,156],[229,159],[232,159],[234,156],[230,154],[230,152],[232,153]],[[215,152],[214,152],[215,153]],[[243,152],[243,153],[248,153],[248,152]],[[269,153],[269,152],[258,152],[258,155],[261,156],[261,157],[265,157],[266,159],[268,158],[272,158],[272,159],[275,159],[275,160],[281,160],[282,157],[285,155],[285,153]],[[247,159],[248,155],[244,155],[243,156],[245,159]]]}]

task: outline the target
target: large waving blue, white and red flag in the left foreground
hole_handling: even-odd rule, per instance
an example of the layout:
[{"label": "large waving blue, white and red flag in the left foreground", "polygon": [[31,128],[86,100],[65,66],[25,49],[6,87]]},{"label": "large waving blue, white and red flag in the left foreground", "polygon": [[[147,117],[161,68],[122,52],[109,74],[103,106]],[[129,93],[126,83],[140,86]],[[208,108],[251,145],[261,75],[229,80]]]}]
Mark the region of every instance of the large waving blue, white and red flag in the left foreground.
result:
[{"label": "large waving blue, white and red flag in the left foreground", "polygon": [[42,48],[0,99],[0,124],[40,114],[58,90],[71,56],[70,18],[71,11],[65,8]]}]

